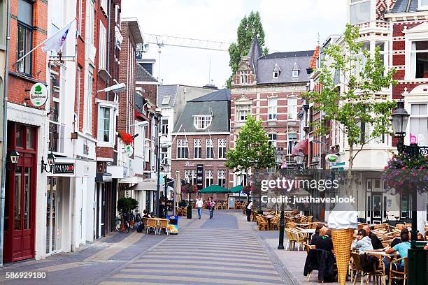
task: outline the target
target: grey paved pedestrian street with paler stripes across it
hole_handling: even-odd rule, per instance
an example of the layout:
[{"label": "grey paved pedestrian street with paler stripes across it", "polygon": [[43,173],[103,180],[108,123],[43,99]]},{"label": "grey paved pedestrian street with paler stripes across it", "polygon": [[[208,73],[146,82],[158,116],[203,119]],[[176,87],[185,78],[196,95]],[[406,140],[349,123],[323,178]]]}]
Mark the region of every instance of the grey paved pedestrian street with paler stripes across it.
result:
[{"label": "grey paved pedestrian street with paler stripes across it", "polygon": [[[292,284],[253,223],[238,211],[185,217],[178,235],[115,233],[44,261],[6,265],[1,284]],[[46,271],[48,279],[6,279],[6,272]]]}]

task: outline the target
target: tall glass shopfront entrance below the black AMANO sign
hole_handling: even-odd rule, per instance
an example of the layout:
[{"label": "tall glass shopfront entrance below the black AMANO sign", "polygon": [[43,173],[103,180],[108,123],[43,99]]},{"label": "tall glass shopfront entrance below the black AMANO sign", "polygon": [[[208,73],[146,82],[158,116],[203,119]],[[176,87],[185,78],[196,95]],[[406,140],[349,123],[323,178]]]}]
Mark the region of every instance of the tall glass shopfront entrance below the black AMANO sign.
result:
[{"label": "tall glass shopfront entrance below the black AMANO sign", "polygon": [[46,193],[46,254],[61,251],[62,242],[62,180],[48,177]]}]

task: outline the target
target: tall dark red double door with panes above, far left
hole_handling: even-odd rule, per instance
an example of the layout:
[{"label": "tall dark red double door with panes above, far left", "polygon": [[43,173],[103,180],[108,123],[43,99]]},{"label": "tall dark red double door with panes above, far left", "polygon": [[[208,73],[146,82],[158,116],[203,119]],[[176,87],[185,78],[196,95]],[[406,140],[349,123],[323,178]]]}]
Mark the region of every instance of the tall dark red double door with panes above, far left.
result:
[{"label": "tall dark red double door with panes above, far left", "polygon": [[[4,261],[34,258],[36,215],[36,128],[10,123],[8,152],[20,154],[6,177]],[[10,164],[9,164],[10,166]]]}]

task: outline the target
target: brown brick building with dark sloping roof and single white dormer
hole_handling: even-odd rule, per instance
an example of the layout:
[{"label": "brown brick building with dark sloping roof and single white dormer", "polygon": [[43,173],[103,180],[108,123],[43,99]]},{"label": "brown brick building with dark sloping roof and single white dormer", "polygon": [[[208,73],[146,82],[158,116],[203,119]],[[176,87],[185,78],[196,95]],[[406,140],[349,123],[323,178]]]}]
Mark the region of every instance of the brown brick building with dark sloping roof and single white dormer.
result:
[{"label": "brown brick building with dark sloping roof and single white dormer", "polygon": [[[180,177],[196,185],[199,167],[203,180],[199,189],[214,184],[229,188],[229,170],[224,166],[230,137],[229,110],[229,89],[212,92],[185,104],[172,133],[171,173],[174,178],[178,170]],[[226,196],[217,194],[214,198],[226,200]]]}]

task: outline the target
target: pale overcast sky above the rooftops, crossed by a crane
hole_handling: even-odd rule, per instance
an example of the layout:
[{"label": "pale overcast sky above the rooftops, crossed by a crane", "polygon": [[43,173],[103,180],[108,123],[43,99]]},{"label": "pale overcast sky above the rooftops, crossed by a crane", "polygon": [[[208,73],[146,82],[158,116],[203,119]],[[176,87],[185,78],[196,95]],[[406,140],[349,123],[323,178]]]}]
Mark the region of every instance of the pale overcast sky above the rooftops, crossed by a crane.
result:
[{"label": "pale overcast sky above the rooftops, crossed by a crane", "polygon": [[[313,50],[345,28],[345,0],[127,0],[122,17],[137,17],[143,34],[236,42],[236,29],[251,10],[259,11],[270,52]],[[150,45],[145,58],[159,53]],[[211,62],[211,73],[210,73]],[[202,86],[211,78],[221,88],[229,78],[229,53],[185,47],[162,47],[160,78],[165,85]],[[211,74],[211,75],[210,75]]]}]

